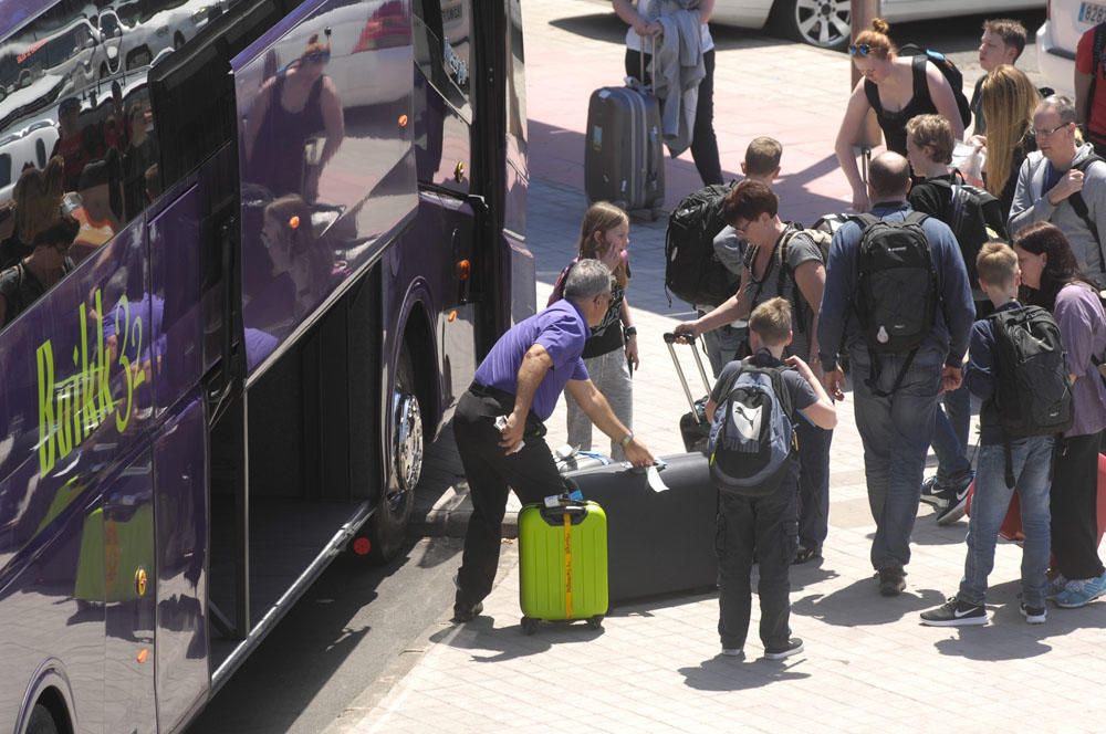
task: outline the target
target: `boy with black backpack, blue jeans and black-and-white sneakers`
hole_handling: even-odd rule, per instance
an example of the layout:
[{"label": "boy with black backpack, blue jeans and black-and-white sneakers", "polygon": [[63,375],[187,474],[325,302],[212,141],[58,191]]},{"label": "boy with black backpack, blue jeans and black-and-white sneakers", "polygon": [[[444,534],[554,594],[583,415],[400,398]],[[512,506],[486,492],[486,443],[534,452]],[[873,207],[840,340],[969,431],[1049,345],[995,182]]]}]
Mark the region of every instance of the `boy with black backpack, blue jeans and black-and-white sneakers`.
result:
[{"label": "boy with black backpack, blue jeans and black-and-white sneakers", "polygon": [[1025,621],[1045,621],[1052,454],[1055,434],[1072,422],[1072,391],[1060,327],[1052,315],[1018,300],[1018,255],[989,242],[979,255],[979,283],[994,314],[971,333],[968,388],[983,400],[981,447],[968,557],[957,596],[921,614],[932,627],[985,625],[987,577],[994,566],[999,526],[1016,489],[1021,500],[1022,602]]}]

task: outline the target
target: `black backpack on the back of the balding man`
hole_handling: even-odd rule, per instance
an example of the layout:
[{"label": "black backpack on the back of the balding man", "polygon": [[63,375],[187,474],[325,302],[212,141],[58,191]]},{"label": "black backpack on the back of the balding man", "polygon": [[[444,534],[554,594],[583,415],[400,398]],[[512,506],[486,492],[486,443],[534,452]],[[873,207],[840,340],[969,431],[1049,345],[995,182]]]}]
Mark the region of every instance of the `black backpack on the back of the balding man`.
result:
[{"label": "black backpack on the back of the balding man", "polygon": [[[926,214],[911,211],[901,221],[857,214],[864,231],[856,256],[854,308],[872,355],[868,386],[887,397],[898,389],[918,347],[933,329],[938,296],[937,271],[929,240],[921,228]],[[889,392],[876,387],[879,355],[906,354]]]}]

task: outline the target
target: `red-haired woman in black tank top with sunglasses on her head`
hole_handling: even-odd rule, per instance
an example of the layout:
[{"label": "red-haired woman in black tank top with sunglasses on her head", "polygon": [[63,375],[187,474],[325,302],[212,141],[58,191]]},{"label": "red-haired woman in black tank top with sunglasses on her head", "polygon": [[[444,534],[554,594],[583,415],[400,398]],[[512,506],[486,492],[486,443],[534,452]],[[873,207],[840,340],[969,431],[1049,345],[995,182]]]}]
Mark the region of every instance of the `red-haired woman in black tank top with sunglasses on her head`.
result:
[{"label": "red-haired woman in black tank top with sunglasses on her head", "polygon": [[888,150],[906,156],[906,124],[915,115],[942,115],[952,124],[957,139],[963,137],[960,108],[948,80],[925,55],[898,56],[887,35],[890,27],[881,18],[856,36],[848,46],[862,78],[848,99],[845,118],[834,149],[845,178],[853,189],[853,209],[868,210],[868,192],[856,167],[853,146],[864,129],[868,111],[874,109]]}]

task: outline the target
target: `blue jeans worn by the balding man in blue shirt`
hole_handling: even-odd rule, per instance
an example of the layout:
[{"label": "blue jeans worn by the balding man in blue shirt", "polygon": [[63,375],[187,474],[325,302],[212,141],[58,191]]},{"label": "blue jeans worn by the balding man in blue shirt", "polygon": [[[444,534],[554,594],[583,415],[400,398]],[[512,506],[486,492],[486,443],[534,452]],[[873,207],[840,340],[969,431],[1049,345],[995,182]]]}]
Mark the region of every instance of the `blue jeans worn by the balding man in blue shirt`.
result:
[{"label": "blue jeans worn by the balding man in blue shirt", "polygon": [[[872,391],[867,380],[872,361],[863,346],[851,350],[856,428],[864,443],[864,473],[868,505],[876,521],[872,565],[877,570],[910,562],[910,533],[918,515],[921,479],[929,439],[940,400],[945,356],[918,352],[902,376],[899,389],[888,397]],[[881,355],[876,387],[887,392],[906,360],[905,355]]]}]

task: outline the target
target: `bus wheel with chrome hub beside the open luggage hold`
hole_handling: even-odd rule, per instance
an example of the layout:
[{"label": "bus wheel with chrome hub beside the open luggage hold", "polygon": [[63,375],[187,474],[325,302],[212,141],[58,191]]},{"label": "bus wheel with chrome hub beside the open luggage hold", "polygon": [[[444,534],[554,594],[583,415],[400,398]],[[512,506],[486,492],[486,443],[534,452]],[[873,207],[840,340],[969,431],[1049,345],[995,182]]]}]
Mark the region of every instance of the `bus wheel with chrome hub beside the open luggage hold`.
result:
[{"label": "bus wheel with chrome hub beside the open luggage hold", "polygon": [[396,365],[392,416],[390,478],[380,506],[369,521],[369,558],[378,563],[390,560],[403,548],[415,507],[415,487],[422,475],[422,410],[415,394],[415,366],[406,345]]}]

